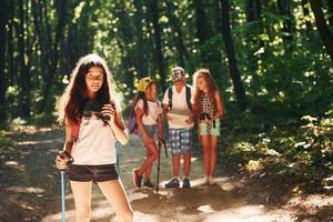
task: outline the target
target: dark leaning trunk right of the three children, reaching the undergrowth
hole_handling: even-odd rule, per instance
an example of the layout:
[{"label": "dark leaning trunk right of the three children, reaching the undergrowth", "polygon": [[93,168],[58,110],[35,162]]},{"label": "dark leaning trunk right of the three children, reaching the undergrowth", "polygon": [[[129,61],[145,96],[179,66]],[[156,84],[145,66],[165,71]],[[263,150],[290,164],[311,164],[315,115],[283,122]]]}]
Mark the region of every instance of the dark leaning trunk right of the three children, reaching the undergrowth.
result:
[{"label": "dark leaning trunk right of the three children, reaching the undergrowth", "polygon": [[229,1],[221,0],[221,6],[222,6],[222,17],[221,17],[222,30],[221,31],[222,31],[222,36],[224,39],[228,62],[229,62],[229,69],[230,69],[230,75],[232,79],[232,83],[234,87],[234,93],[236,95],[239,107],[242,111],[244,111],[246,109],[246,97],[245,97],[245,91],[244,91],[243,83],[241,80],[241,75],[240,75],[240,72],[238,69],[233,40],[232,40],[232,36],[231,36]]}]

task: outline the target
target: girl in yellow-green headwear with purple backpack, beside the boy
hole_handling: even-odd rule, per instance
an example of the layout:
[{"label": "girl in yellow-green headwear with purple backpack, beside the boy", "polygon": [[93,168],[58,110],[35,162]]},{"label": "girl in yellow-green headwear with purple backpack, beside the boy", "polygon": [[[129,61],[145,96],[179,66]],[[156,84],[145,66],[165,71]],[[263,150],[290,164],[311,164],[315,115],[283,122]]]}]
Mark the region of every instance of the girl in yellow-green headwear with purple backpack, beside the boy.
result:
[{"label": "girl in yellow-green headwear with purple backpack, beside the boy", "polygon": [[157,140],[163,140],[162,109],[160,101],[157,100],[158,85],[154,80],[149,77],[140,79],[137,90],[134,114],[147,150],[147,159],[140,169],[133,170],[133,184],[141,188],[144,176],[143,185],[154,188],[150,176],[153,162],[159,158]]}]

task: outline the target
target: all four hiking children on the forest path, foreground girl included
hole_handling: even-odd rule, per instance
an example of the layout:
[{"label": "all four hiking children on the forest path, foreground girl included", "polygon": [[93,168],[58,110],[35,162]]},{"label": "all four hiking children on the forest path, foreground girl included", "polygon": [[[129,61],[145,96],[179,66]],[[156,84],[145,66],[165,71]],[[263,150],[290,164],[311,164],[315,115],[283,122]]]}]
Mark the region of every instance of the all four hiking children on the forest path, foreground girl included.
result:
[{"label": "all four hiking children on the forest path, foreground girl included", "polygon": [[[147,159],[133,171],[137,186],[154,186],[150,176],[153,162],[159,158],[157,141],[163,141],[163,117],[169,124],[169,144],[172,150],[173,178],[167,188],[180,186],[180,159],[184,160],[183,188],[190,188],[191,149],[194,122],[199,125],[200,142],[206,183],[212,184],[216,163],[222,98],[206,69],[198,70],[194,89],[186,84],[182,68],[172,69],[173,85],[157,99],[158,85],[143,78],[137,85],[135,121],[147,149]],[[70,82],[58,102],[58,120],[64,125],[63,151],[56,165],[65,170],[70,180],[75,221],[90,221],[91,186],[95,183],[112,204],[118,221],[133,221],[133,211],[115,169],[115,141],[124,144],[129,134],[121,107],[113,89],[114,81],[105,61],[98,54],[79,60]],[[159,185],[159,184],[157,184]]]}]

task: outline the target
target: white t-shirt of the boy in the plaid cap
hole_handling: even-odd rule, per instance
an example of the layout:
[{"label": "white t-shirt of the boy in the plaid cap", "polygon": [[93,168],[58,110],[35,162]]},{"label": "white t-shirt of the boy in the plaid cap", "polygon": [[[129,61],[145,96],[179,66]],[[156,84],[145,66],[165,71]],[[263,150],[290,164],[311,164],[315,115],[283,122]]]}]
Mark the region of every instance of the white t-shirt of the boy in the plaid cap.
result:
[{"label": "white t-shirt of the boy in the plaid cap", "polygon": [[[188,85],[190,87],[190,85]],[[194,103],[194,89],[192,87],[191,88],[191,104]],[[164,97],[163,97],[163,104],[169,105],[169,89],[165,90]],[[188,102],[186,102],[186,88],[183,87],[182,91],[179,93],[175,89],[174,85],[172,85],[172,110],[169,112],[175,112],[175,113],[184,113],[185,115],[188,115],[186,113],[190,113],[190,109],[188,107]],[[188,127],[181,125],[181,124],[176,124],[172,121],[168,121],[169,123],[169,128],[171,129],[182,129],[182,128],[193,128],[194,123],[192,124],[188,124]]]}]

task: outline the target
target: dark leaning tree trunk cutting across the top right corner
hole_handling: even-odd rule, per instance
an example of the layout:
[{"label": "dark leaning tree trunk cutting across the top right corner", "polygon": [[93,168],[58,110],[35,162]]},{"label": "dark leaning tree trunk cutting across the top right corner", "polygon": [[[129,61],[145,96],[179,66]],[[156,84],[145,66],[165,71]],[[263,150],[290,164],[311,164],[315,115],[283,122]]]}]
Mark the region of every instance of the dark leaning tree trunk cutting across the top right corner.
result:
[{"label": "dark leaning tree trunk cutting across the top right corner", "polygon": [[327,27],[326,20],[324,18],[324,13],[321,8],[321,3],[317,0],[310,0],[310,4],[311,4],[312,11],[314,13],[315,23],[316,23],[317,30],[320,32],[320,36],[324,42],[324,46],[331,58],[331,61],[333,62],[333,37]]}]

